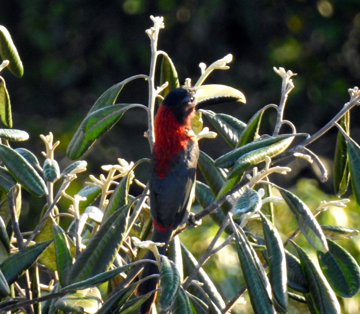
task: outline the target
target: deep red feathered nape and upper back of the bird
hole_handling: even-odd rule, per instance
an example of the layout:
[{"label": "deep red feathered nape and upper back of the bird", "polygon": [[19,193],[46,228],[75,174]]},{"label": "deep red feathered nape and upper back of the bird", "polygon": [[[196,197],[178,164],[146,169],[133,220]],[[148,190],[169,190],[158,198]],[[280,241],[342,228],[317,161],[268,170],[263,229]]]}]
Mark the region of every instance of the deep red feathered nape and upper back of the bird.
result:
[{"label": "deep red feathered nape and upper back of the bird", "polygon": [[153,156],[155,160],[155,171],[158,177],[165,177],[171,160],[186,148],[189,140],[195,140],[194,136],[189,136],[186,129],[191,129],[190,114],[185,124],[181,125],[176,121],[172,110],[160,105],[154,120],[155,144]]}]

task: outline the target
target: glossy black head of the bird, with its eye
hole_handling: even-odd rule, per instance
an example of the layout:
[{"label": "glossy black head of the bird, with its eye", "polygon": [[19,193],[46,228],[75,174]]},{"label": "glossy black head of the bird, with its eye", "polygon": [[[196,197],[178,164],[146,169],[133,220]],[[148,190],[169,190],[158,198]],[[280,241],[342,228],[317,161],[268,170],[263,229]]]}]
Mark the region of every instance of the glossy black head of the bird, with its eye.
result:
[{"label": "glossy black head of the bird, with its eye", "polygon": [[196,91],[194,87],[181,86],[170,91],[162,101],[164,106],[172,110],[180,124],[183,124],[185,118],[194,110]]}]

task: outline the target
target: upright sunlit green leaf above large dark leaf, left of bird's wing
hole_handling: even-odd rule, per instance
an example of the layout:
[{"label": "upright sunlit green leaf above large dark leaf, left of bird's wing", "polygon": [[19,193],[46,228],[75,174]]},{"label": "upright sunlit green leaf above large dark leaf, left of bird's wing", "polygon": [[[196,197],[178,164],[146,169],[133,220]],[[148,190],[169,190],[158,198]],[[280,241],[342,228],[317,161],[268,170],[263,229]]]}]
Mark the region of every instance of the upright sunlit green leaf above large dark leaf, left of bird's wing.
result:
[{"label": "upright sunlit green leaf above large dark leaf, left of bird's wing", "polygon": [[104,219],[107,219],[115,210],[127,205],[127,198],[129,196],[131,172],[122,177],[120,183],[115,188],[113,194],[109,199],[109,203],[106,206]]}]

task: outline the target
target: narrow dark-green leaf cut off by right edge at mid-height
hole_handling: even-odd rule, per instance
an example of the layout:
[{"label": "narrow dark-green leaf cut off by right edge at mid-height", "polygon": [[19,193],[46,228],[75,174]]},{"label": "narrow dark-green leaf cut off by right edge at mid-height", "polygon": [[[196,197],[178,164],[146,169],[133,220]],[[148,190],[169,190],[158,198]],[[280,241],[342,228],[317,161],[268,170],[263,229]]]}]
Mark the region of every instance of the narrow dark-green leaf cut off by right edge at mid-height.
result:
[{"label": "narrow dark-green leaf cut off by right edge at mid-height", "polygon": [[360,207],[360,146],[349,136],[346,137],[352,193]]}]

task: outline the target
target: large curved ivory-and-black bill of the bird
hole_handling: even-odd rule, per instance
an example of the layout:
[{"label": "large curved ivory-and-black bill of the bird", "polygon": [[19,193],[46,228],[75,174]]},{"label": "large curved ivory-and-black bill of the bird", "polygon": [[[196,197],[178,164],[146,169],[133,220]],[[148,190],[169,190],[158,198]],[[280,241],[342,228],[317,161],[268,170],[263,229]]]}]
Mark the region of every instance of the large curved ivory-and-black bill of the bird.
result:
[{"label": "large curved ivory-and-black bill of the bird", "polygon": [[244,94],[230,86],[210,84],[195,86],[195,88],[197,89],[195,93],[196,110],[229,101],[246,103]]}]

